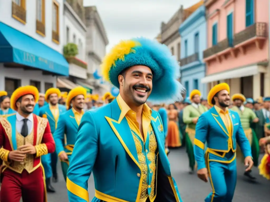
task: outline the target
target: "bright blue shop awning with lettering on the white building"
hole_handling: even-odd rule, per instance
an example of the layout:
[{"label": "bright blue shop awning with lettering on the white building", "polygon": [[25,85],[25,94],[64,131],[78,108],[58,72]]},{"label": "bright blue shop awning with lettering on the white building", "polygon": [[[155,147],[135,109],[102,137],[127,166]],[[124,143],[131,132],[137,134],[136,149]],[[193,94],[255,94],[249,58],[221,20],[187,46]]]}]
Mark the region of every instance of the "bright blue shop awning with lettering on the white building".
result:
[{"label": "bright blue shop awning with lettering on the white building", "polygon": [[2,22],[0,62],[15,62],[56,75],[69,75],[69,64],[62,54]]}]

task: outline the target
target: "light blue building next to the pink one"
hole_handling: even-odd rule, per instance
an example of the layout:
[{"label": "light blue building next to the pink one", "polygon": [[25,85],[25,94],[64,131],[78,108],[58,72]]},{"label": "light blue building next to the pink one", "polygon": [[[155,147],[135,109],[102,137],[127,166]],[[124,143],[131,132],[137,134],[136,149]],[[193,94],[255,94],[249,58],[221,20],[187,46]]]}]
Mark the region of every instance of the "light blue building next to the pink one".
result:
[{"label": "light blue building next to the pink one", "polygon": [[179,27],[181,36],[181,83],[186,94],[198,89],[203,98],[207,97],[207,86],[201,83],[205,76],[203,50],[207,48],[205,7],[200,6]]}]

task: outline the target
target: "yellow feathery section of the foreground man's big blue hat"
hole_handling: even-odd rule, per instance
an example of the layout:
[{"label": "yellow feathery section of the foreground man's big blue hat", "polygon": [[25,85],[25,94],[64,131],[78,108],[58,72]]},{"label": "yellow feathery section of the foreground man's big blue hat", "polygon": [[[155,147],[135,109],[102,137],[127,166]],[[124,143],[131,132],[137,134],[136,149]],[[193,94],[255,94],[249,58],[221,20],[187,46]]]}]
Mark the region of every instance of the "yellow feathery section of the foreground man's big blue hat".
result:
[{"label": "yellow feathery section of the foreground man's big blue hat", "polygon": [[112,50],[105,55],[102,64],[100,65],[102,70],[102,75],[105,81],[109,80],[109,71],[115,66],[115,62],[119,60],[125,60],[125,55],[129,53],[135,53],[135,50],[133,49],[136,46],[141,46],[141,44],[137,41],[132,40],[125,40],[120,41],[119,44],[114,46]]}]

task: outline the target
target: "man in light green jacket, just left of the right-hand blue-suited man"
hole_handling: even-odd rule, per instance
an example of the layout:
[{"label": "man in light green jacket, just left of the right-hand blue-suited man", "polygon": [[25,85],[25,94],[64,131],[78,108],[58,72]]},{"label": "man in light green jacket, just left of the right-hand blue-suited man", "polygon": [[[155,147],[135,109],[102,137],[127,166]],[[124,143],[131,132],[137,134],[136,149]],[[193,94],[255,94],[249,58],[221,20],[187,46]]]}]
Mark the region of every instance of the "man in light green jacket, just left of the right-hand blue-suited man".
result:
[{"label": "man in light green jacket, just left of the right-hand blue-suited man", "polygon": [[195,127],[199,116],[201,116],[202,113],[206,112],[207,108],[200,104],[201,92],[199,90],[192,90],[189,97],[192,100],[192,103],[191,105],[188,105],[184,108],[183,121],[187,125],[185,129],[185,144],[189,160],[189,173],[193,174],[194,171],[197,169],[197,163],[195,161],[193,151]]}]

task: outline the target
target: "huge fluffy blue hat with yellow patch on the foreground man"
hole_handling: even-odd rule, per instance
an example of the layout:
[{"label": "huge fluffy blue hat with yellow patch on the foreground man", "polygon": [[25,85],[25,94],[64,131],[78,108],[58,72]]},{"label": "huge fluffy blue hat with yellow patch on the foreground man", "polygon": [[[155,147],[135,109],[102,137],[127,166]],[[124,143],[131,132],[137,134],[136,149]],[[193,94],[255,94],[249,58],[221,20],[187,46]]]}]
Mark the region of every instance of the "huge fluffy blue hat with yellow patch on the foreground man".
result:
[{"label": "huge fluffy blue hat with yellow patch on the foreground man", "polygon": [[167,104],[183,99],[184,87],[177,81],[180,77],[178,61],[166,45],[155,40],[141,37],[120,41],[105,55],[101,64],[102,75],[104,80],[119,88],[119,74],[135,65],[145,65],[153,71],[150,102]]}]

